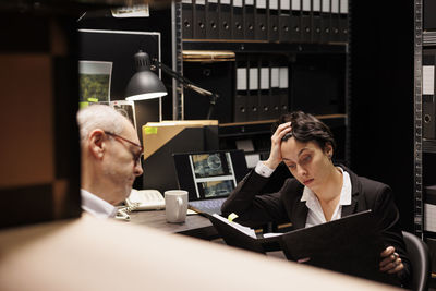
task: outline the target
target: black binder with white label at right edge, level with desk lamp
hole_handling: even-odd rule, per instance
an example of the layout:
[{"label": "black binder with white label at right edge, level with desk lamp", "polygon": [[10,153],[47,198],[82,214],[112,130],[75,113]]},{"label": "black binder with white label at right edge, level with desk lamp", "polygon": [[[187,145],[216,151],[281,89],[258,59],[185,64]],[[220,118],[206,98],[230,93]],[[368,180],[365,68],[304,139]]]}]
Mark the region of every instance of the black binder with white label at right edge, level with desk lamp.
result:
[{"label": "black binder with white label at right edge, level with desk lamp", "polygon": [[423,50],[423,137],[436,138],[436,104],[435,104],[435,65],[436,50]]}]

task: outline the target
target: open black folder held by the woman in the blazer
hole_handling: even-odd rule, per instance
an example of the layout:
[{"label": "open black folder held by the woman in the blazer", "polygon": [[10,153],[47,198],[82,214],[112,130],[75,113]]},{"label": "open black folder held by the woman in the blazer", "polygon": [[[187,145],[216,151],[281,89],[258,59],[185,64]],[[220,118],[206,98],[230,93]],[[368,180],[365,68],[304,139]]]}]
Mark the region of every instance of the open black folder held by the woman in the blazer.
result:
[{"label": "open black folder held by the woman in the blazer", "polygon": [[371,210],[270,238],[254,238],[225,219],[209,219],[228,245],[264,254],[279,245],[289,260],[398,286],[395,275],[379,271],[386,246]]}]

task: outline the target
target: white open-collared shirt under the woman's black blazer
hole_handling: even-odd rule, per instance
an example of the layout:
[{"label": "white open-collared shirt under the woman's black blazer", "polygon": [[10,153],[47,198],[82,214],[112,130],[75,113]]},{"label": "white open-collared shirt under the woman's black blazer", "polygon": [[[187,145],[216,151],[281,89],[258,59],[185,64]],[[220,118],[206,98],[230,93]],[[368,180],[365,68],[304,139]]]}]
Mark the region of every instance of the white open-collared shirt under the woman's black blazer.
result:
[{"label": "white open-collared shirt under the woman's black blazer", "polygon": [[[341,218],[342,206],[351,205],[351,180],[348,172],[343,171],[342,168],[337,167],[342,172],[342,190],[339,198],[339,203],[335,208],[334,215],[331,216],[331,220],[336,220]],[[320,207],[319,201],[316,197],[315,193],[312,192],[308,187],[304,187],[303,196],[301,197],[301,202],[305,202],[308,208],[307,218],[306,218],[306,228],[313,227],[316,225],[320,225],[327,222],[323,208]]]}]

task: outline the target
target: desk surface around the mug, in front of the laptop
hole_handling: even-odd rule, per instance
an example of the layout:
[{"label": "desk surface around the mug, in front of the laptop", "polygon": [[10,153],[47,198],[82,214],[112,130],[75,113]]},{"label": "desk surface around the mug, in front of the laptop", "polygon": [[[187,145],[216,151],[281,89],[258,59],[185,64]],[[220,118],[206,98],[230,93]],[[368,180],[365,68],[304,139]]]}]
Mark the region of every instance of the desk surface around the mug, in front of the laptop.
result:
[{"label": "desk surface around the mug, in front of the laptop", "polygon": [[180,233],[204,240],[219,238],[209,219],[201,215],[189,215],[182,223],[167,222],[165,210],[133,211],[130,217],[132,223],[145,225],[166,232]]}]

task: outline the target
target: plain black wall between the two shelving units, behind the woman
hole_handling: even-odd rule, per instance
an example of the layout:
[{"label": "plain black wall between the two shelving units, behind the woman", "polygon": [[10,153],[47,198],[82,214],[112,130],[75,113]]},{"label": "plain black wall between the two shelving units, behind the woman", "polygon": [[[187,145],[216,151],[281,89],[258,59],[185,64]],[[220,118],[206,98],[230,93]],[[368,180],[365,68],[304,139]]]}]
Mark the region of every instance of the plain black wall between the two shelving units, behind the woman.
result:
[{"label": "plain black wall between the two shelving units, behind the woman", "polygon": [[351,1],[351,167],[392,187],[411,230],[413,1]]}]

